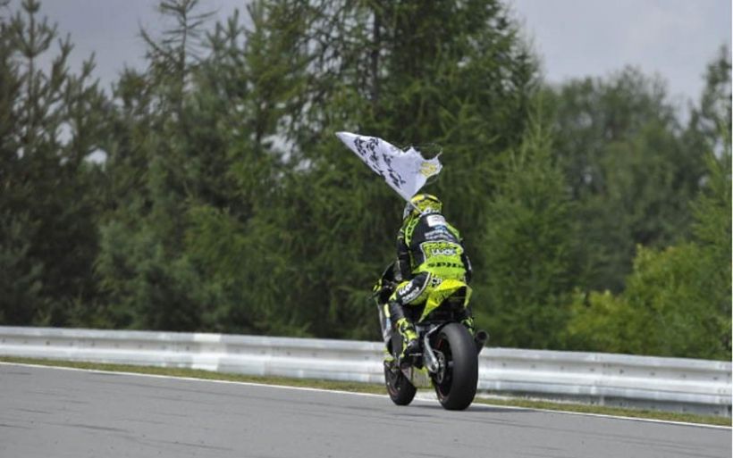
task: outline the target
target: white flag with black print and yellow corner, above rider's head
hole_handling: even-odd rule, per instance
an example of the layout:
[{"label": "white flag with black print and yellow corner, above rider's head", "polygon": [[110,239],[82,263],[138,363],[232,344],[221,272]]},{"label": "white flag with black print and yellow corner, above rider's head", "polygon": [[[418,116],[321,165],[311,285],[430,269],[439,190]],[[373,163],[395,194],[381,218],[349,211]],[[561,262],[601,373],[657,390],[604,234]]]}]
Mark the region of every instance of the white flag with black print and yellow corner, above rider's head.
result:
[{"label": "white flag with black print and yellow corner, above rider's head", "polygon": [[437,157],[425,159],[413,147],[402,151],[382,138],[350,132],[337,132],[336,136],[408,202],[425,186],[428,178],[437,175],[442,169]]}]

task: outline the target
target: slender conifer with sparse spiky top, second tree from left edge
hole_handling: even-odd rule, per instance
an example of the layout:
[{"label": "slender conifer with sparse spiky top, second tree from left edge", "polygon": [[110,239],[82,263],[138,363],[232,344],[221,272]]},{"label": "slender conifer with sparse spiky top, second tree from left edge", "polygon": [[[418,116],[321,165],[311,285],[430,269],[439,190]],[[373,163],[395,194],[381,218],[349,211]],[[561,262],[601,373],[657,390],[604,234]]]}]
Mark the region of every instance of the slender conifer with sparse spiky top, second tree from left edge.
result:
[{"label": "slender conifer with sparse spiky top, second tree from left edge", "polygon": [[[209,16],[197,7],[196,0],[162,1],[159,11],[173,27],[160,39],[141,32],[147,71],[126,71],[116,88],[122,114],[107,169],[114,210],[102,224],[97,259],[113,326],[198,329],[210,303],[183,249],[187,203],[201,192],[199,164],[208,147],[197,137],[189,108],[197,46]],[[125,188],[132,192],[119,194]]]}]

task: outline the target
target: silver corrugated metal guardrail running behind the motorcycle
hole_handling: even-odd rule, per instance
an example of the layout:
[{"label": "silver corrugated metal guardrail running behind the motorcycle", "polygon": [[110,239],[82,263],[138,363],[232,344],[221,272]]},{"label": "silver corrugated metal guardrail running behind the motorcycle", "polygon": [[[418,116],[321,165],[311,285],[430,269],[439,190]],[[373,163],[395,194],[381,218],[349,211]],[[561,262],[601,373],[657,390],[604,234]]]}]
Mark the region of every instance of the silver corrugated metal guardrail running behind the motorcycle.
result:
[{"label": "silver corrugated metal guardrail running behind the motorcycle", "polygon": [[[383,383],[382,344],[348,340],[0,327],[0,355]],[[485,348],[478,389],[730,416],[731,363]]]}]

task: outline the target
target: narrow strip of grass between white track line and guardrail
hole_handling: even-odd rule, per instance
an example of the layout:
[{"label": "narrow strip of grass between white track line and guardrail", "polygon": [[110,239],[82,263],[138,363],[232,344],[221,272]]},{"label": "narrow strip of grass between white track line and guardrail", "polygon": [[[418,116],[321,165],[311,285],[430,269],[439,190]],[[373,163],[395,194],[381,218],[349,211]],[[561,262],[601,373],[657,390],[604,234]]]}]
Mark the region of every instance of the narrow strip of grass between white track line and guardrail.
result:
[{"label": "narrow strip of grass between white track line and guardrail", "polygon": [[[287,387],[312,387],[349,391],[354,393],[371,393],[385,395],[382,385],[369,383],[317,380],[317,379],[288,379],[284,377],[257,377],[214,371],[200,371],[195,369],[163,368],[151,366],[131,366],[124,364],[103,364],[97,362],[70,362],[41,360],[32,358],[16,358],[0,356],[0,362],[16,362],[22,364],[38,364],[53,367],[68,367],[75,369],[89,369],[94,371],[130,372],[137,374],[164,375],[169,377],[187,377],[190,379],[227,380],[236,382],[261,383],[265,385],[282,385]],[[555,403],[525,398],[493,398],[476,397],[475,404],[498,405],[503,407],[523,407],[527,409],[543,409],[559,412],[594,413],[619,417],[641,418],[661,421],[684,421],[717,426],[731,426],[731,419],[727,417],[695,415],[693,413],[663,412],[641,409],[628,409],[593,404]]]}]

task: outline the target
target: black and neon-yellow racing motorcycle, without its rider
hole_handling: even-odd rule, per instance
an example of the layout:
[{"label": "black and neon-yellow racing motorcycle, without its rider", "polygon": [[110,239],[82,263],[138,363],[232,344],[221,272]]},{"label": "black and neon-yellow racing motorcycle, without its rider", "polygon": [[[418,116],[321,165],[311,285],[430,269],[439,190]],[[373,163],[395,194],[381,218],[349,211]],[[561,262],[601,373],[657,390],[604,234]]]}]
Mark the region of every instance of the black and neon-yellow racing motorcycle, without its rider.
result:
[{"label": "black and neon-yellow racing motorcycle, without its rider", "polygon": [[400,361],[402,337],[384,314],[384,304],[398,284],[394,267],[392,262],[374,287],[384,345],[392,354],[384,362],[384,383],[392,402],[408,405],[418,387],[434,387],[443,408],[466,409],[476,396],[478,354],[489,337],[483,330],[472,337],[460,322],[471,288],[463,281],[445,279],[424,305],[405,307],[405,316],[415,324],[419,350]]}]

